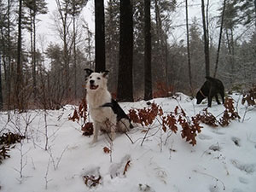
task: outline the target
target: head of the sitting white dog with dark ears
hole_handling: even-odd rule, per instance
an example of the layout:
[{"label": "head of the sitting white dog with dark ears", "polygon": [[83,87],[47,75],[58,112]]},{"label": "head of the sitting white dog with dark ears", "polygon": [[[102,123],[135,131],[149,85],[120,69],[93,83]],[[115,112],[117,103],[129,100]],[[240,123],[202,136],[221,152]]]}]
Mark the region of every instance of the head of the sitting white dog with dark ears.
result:
[{"label": "head of the sitting white dog with dark ears", "polygon": [[90,69],[84,69],[86,89],[88,91],[96,91],[101,89],[107,89],[108,83],[108,71],[101,73],[93,72]]}]

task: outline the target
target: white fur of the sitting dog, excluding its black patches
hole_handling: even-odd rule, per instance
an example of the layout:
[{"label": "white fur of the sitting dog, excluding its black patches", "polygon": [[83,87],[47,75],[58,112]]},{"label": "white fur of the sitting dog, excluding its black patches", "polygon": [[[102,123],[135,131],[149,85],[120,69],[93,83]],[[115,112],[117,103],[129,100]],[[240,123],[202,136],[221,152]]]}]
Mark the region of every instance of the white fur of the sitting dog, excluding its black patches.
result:
[{"label": "white fur of the sitting dog, excluding its black patches", "polygon": [[[96,90],[90,89],[90,80],[94,81],[97,86]],[[90,116],[93,119],[94,133],[91,143],[96,143],[99,131],[106,131],[110,133],[110,138],[113,141],[115,131],[125,132],[122,119],[117,122],[117,116],[113,113],[112,108],[102,107],[103,104],[111,102],[111,94],[107,87],[108,75],[105,73],[91,73],[87,78],[86,83],[86,101],[89,104]],[[129,120],[125,121],[125,127],[129,127]]]}]

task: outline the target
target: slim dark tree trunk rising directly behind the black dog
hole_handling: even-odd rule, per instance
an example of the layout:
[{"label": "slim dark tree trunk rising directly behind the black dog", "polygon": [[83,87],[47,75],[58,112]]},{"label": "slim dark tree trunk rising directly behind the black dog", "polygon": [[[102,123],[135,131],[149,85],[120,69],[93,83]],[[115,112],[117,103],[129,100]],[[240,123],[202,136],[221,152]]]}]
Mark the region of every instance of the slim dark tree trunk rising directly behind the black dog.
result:
[{"label": "slim dark tree trunk rising directly behind the black dog", "polygon": [[202,23],[203,23],[203,31],[204,31],[206,75],[210,76],[209,37],[207,36],[208,32],[207,32],[207,23],[206,23],[204,0],[201,0],[201,15],[202,15]]}]

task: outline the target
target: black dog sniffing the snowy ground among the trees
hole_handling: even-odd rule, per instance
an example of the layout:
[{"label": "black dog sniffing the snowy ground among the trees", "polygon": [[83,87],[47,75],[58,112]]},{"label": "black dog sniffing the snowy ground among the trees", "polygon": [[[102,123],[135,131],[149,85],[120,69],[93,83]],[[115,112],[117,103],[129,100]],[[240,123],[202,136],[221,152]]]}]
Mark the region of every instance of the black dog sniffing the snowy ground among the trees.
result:
[{"label": "black dog sniffing the snowy ground among the trees", "polygon": [[224,103],[224,84],[219,80],[212,77],[206,77],[207,81],[202,85],[201,90],[196,94],[196,104],[200,104],[205,98],[208,98],[208,108],[212,107],[212,97],[215,96],[216,102],[218,101],[218,94]]}]

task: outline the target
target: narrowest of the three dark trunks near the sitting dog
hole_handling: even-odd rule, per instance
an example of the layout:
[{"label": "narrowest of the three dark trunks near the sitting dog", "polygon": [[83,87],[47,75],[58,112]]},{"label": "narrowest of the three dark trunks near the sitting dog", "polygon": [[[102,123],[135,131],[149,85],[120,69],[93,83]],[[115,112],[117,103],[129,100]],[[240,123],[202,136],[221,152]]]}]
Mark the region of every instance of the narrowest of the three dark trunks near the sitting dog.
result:
[{"label": "narrowest of the three dark trunks near the sitting dog", "polygon": [[151,20],[150,20],[150,1],[144,0],[145,26],[144,26],[144,79],[145,90],[144,100],[152,99],[152,74],[151,74]]}]

